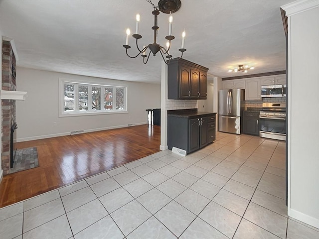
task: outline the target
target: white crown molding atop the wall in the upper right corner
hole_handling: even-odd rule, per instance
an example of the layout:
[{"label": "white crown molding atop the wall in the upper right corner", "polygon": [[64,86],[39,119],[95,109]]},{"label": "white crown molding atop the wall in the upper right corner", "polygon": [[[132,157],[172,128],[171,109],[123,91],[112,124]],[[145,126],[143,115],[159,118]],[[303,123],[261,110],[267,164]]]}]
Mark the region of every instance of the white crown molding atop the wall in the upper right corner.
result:
[{"label": "white crown molding atop the wall in the upper right corner", "polygon": [[283,8],[286,11],[286,16],[292,16],[318,6],[319,0],[298,0],[283,5],[281,8]]}]

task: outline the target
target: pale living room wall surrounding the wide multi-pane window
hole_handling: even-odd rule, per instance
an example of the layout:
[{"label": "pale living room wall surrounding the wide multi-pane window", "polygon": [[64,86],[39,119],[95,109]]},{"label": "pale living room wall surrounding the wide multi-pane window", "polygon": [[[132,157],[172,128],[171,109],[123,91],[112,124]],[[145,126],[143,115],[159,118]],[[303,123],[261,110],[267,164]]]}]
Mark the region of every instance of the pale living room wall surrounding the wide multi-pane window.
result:
[{"label": "pale living room wall surrounding the wide multi-pane window", "polygon": [[[58,117],[59,78],[128,86],[127,114]],[[25,101],[16,101],[17,141],[147,123],[146,109],[160,108],[160,85],[71,75],[17,67],[17,91],[26,91]],[[53,122],[57,126],[53,126]]]}]

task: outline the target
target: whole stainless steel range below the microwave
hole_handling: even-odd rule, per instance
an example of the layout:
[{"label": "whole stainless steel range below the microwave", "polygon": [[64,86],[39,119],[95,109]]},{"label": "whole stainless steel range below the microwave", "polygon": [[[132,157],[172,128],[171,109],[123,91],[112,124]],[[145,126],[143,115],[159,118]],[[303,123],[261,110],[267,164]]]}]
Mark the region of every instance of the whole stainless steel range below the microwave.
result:
[{"label": "whole stainless steel range below the microwave", "polygon": [[263,103],[259,114],[259,136],[286,140],[286,104]]}]

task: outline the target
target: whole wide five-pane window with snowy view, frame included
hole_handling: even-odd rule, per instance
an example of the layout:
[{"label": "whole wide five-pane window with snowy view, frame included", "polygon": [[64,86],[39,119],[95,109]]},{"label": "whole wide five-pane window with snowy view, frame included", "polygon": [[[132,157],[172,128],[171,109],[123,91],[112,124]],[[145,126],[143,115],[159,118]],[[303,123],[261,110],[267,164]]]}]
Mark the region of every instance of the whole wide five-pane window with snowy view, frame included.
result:
[{"label": "whole wide five-pane window with snowy view, frame included", "polygon": [[127,86],[60,80],[59,116],[127,113]]}]

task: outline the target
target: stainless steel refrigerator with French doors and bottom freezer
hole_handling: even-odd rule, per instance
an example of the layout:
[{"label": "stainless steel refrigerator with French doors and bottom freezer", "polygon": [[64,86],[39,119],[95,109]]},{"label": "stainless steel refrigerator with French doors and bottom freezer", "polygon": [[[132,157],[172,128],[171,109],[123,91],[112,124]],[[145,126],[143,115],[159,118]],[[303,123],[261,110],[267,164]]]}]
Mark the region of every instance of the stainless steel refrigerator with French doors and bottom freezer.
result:
[{"label": "stainless steel refrigerator with French doors and bottom freezer", "polygon": [[241,134],[242,112],[245,108],[245,90],[219,91],[219,131]]}]

